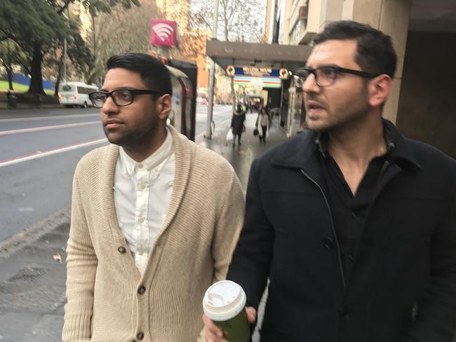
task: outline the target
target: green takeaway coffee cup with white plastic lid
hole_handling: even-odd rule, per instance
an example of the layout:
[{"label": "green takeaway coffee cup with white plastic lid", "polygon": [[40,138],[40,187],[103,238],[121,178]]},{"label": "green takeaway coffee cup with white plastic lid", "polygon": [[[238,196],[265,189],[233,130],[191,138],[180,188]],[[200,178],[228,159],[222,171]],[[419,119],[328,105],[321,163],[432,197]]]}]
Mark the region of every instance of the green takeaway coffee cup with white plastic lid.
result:
[{"label": "green takeaway coffee cup with white plastic lid", "polygon": [[246,294],[236,282],[221,280],[211,285],[204,294],[203,310],[229,342],[250,341]]}]

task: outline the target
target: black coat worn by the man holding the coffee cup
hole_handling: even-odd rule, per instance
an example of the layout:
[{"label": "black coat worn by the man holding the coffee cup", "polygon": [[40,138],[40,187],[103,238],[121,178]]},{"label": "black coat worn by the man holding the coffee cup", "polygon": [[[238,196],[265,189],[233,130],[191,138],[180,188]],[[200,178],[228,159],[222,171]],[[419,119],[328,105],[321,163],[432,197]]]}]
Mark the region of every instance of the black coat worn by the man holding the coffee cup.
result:
[{"label": "black coat worn by the man holding the coffee cup", "polygon": [[373,193],[346,282],[314,132],[253,163],[229,267],[247,305],[269,278],[262,342],[451,342],[456,162],[401,136]]}]

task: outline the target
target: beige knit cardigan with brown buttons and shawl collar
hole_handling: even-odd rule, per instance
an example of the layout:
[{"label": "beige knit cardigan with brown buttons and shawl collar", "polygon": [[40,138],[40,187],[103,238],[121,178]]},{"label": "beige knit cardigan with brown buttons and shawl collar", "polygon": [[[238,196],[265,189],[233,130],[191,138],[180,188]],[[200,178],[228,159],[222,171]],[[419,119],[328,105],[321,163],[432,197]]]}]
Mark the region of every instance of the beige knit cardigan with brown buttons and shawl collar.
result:
[{"label": "beige knit cardigan with brown buttons and shawl collar", "polygon": [[174,128],[170,131],[173,194],[142,276],[116,219],[113,186],[119,146],[100,147],[79,161],[67,245],[63,341],[198,338],[203,294],[227,273],[241,231],[244,198],[227,160]]}]

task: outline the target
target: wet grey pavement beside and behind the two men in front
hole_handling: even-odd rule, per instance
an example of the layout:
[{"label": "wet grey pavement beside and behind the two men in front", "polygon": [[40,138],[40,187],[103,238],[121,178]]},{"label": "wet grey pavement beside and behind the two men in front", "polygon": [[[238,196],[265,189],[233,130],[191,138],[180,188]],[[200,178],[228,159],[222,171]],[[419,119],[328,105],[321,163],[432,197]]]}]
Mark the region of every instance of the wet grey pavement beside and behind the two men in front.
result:
[{"label": "wet grey pavement beside and behind the two men in front", "polygon": [[[233,147],[225,137],[229,121],[216,127],[212,139],[203,136],[197,144],[207,146],[232,163],[245,193],[250,164],[270,146],[283,142],[286,134],[271,125],[268,142],[253,136],[257,114],[247,114],[241,146]],[[61,341],[65,306],[66,253],[69,208],[0,242],[0,341]],[[264,303],[264,301],[263,301]],[[264,306],[264,305],[263,305]],[[260,307],[259,316],[261,316]],[[255,332],[253,342],[258,341]]]}]

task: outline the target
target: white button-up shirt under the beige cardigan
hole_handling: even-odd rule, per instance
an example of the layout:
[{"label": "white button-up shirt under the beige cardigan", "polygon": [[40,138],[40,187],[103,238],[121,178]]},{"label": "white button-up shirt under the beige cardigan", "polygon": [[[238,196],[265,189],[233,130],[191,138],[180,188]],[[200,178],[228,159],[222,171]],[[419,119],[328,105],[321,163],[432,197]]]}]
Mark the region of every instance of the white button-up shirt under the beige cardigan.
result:
[{"label": "white button-up shirt under the beige cardigan", "polygon": [[114,177],[117,221],[142,274],[173,192],[173,137],[166,128],[165,142],[141,163],[130,158],[123,148],[119,151]]}]

